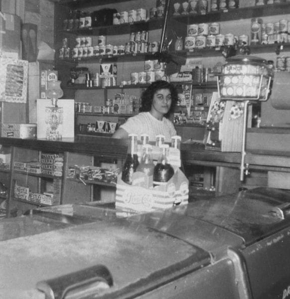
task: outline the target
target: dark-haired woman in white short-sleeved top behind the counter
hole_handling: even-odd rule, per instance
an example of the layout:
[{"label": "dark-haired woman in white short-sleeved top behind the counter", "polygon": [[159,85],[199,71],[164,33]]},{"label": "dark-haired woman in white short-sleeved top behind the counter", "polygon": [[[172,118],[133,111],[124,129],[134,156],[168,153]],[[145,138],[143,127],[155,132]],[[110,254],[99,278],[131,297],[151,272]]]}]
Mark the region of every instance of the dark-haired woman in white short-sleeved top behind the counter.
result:
[{"label": "dark-haired woman in white short-sleeved top behind the counter", "polygon": [[156,135],[164,135],[170,142],[176,135],[172,122],[168,119],[177,103],[174,86],[166,81],[153,82],[141,96],[140,113],[127,120],[113,135],[113,138],[126,139],[129,134],[149,135],[149,141],[155,141]]}]

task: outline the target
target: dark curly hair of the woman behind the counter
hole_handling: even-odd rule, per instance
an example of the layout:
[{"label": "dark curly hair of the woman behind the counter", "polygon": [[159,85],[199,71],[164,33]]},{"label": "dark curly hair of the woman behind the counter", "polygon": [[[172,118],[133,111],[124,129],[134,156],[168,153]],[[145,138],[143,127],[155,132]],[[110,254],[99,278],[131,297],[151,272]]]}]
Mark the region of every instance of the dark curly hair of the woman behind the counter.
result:
[{"label": "dark curly hair of the woman behind the counter", "polygon": [[168,118],[169,115],[174,111],[175,105],[178,100],[177,91],[175,87],[163,80],[158,80],[151,83],[150,86],[142,93],[141,95],[141,107],[139,112],[148,112],[151,110],[151,105],[153,101],[154,94],[160,89],[169,89],[171,93],[171,106],[169,111],[164,115],[164,117]]}]

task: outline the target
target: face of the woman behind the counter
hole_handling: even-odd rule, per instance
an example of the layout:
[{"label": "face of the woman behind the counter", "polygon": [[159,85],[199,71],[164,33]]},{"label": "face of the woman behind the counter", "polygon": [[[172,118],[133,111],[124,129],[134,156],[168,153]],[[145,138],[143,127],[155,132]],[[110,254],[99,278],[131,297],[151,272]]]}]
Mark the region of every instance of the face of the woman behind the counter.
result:
[{"label": "face of the woman behind the counter", "polygon": [[169,89],[159,89],[154,93],[151,113],[155,117],[163,117],[166,114],[171,106],[171,92]]}]

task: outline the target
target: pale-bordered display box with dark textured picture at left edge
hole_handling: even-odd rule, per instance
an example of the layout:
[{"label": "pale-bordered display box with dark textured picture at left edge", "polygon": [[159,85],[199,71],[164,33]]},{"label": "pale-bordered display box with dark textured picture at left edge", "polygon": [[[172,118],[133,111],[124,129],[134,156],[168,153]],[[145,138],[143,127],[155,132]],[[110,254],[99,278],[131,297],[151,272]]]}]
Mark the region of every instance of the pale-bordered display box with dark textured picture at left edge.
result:
[{"label": "pale-bordered display box with dark textured picture at left edge", "polygon": [[28,61],[0,57],[0,101],[26,103]]}]

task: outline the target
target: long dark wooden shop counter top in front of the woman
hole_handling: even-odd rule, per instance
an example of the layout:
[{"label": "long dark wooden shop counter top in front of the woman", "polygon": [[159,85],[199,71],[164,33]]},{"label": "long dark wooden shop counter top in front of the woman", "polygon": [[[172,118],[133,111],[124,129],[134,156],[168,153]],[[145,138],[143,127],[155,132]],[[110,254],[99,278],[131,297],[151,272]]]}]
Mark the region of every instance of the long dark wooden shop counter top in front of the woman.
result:
[{"label": "long dark wooden shop counter top in front of the woman", "polygon": [[[107,137],[76,136],[74,139],[49,141],[45,139],[16,139],[0,138],[0,144],[8,147],[22,147],[45,151],[70,151],[89,155],[124,158],[127,153],[127,140],[111,139]],[[181,156],[184,163],[240,167],[240,152],[221,152],[205,149],[201,143],[188,142],[181,144]],[[253,168],[268,167],[273,170],[290,171],[290,151],[273,149],[249,149],[245,163]]]}]

